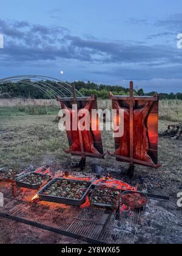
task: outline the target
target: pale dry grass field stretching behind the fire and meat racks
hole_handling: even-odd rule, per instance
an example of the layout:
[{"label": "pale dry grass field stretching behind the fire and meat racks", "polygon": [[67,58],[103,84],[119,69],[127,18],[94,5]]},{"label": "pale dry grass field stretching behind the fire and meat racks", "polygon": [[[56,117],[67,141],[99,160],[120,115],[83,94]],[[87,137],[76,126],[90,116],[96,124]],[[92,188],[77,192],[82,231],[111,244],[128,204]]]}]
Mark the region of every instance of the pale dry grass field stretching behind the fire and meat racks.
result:
[{"label": "pale dry grass field stretching behind the fire and meat racks", "polygon": [[[70,156],[63,152],[64,148],[69,147],[66,133],[60,132],[58,124],[54,122],[59,110],[58,105],[56,105],[57,102],[52,101],[51,104],[47,102],[47,110],[41,115],[39,110],[35,115],[29,113],[29,108],[44,108],[43,102],[36,102],[36,104],[34,102],[32,106],[24,102],[25,104],[18,104],[19,107],[17,105],[0,107],[0,168],[7,166],[24,169],[29,165],[40,166],[49,164],[52,161],[61,163],[69,159]],[[2,102],[0,105],[2,105]],[[99,100],[98,107],[110,108],[110,101]],[[182,121],[181,113],[181,102],[161,101],[160,130],[166,129],[165,124]],[[102,136],[104,151],[113,151],[112,132],[104,131]],[[143,174],[150,172],[150,175],[154,176],[157,173],[163,179],[169,179],[170,177],[170,179],[181,180],[181,149],[180,141],[175,141],[174,143],[172,140],[160,138],[159,158],[160,162],[163,163],[163,167],[160,168],[160,171],[149,171],[147,168],[138,166],[137,171]],[[116,163],[115,159],[109,156],[106,156],[106,160],[94,161],[98,161],[105,168],[125,166],[124,164]],[[91,163],[93,163],[93,160],[88,159],[88,171]]]}]

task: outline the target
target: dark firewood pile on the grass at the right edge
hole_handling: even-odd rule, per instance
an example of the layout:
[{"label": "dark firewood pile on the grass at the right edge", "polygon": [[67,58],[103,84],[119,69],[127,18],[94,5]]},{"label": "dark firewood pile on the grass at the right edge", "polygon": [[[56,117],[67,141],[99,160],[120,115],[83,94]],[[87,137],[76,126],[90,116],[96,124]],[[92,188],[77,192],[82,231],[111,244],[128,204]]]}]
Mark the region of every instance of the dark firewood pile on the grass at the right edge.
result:
[{"label": "dark firewood pile on the grass at the right edge", "polygon": [[174,140],[180,140],[182,138],[182,123],[168,126],[167,130],[160,133],[161,137],[169,137]]}]

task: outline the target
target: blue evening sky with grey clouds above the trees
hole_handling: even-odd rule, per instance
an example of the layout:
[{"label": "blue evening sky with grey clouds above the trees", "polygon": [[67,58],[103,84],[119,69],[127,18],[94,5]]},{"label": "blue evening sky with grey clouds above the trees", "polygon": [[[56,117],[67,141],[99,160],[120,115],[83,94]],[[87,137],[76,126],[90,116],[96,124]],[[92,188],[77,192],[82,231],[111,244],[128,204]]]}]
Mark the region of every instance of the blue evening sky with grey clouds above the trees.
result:
[{"label": "blue evening sky with grey clouds above the trees", "polygon": [[181,0],[6,0],[0,13],[1,78],[39,74],[126,87],[134,80],[146,91],[181,92]]}]

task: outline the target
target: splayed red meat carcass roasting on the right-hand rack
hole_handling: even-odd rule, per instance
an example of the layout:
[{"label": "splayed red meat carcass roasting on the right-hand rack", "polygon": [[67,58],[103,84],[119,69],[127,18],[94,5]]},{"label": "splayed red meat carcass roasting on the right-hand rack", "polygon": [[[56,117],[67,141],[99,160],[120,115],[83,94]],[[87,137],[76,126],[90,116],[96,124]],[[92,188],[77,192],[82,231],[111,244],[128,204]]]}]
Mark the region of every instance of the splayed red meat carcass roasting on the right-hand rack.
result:
[{"label": "splayed red meat carcass roasting on the right-hand rack", "polygon": [[[113,101],[116,110],[124,110],[124,135],[120,137],[120,146],[116,149],[116,155],[130,157],[130,110],[120,107],[118,101]],[[151,103],[148,102],[143,108],[133,111],[133,157],[137,160],[153,164],[152,159],[147,154],[149,151],[149,138],[145,124]]]}]

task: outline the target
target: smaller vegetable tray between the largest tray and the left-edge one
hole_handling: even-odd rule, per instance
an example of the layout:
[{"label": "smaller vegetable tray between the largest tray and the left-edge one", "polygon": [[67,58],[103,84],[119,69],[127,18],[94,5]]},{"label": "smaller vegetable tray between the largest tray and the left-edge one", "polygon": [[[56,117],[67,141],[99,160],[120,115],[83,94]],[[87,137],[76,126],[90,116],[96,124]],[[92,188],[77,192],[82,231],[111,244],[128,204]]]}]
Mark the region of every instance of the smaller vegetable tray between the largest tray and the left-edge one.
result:
[{"label": "smaller vegetable tray between the largest tray and the left-edge one", "polygon": [[22,188],[29,188],[30,190],[39,190],[50,179],[51,177],[47,174],[28,172],[16,179],[16,185]]}]

